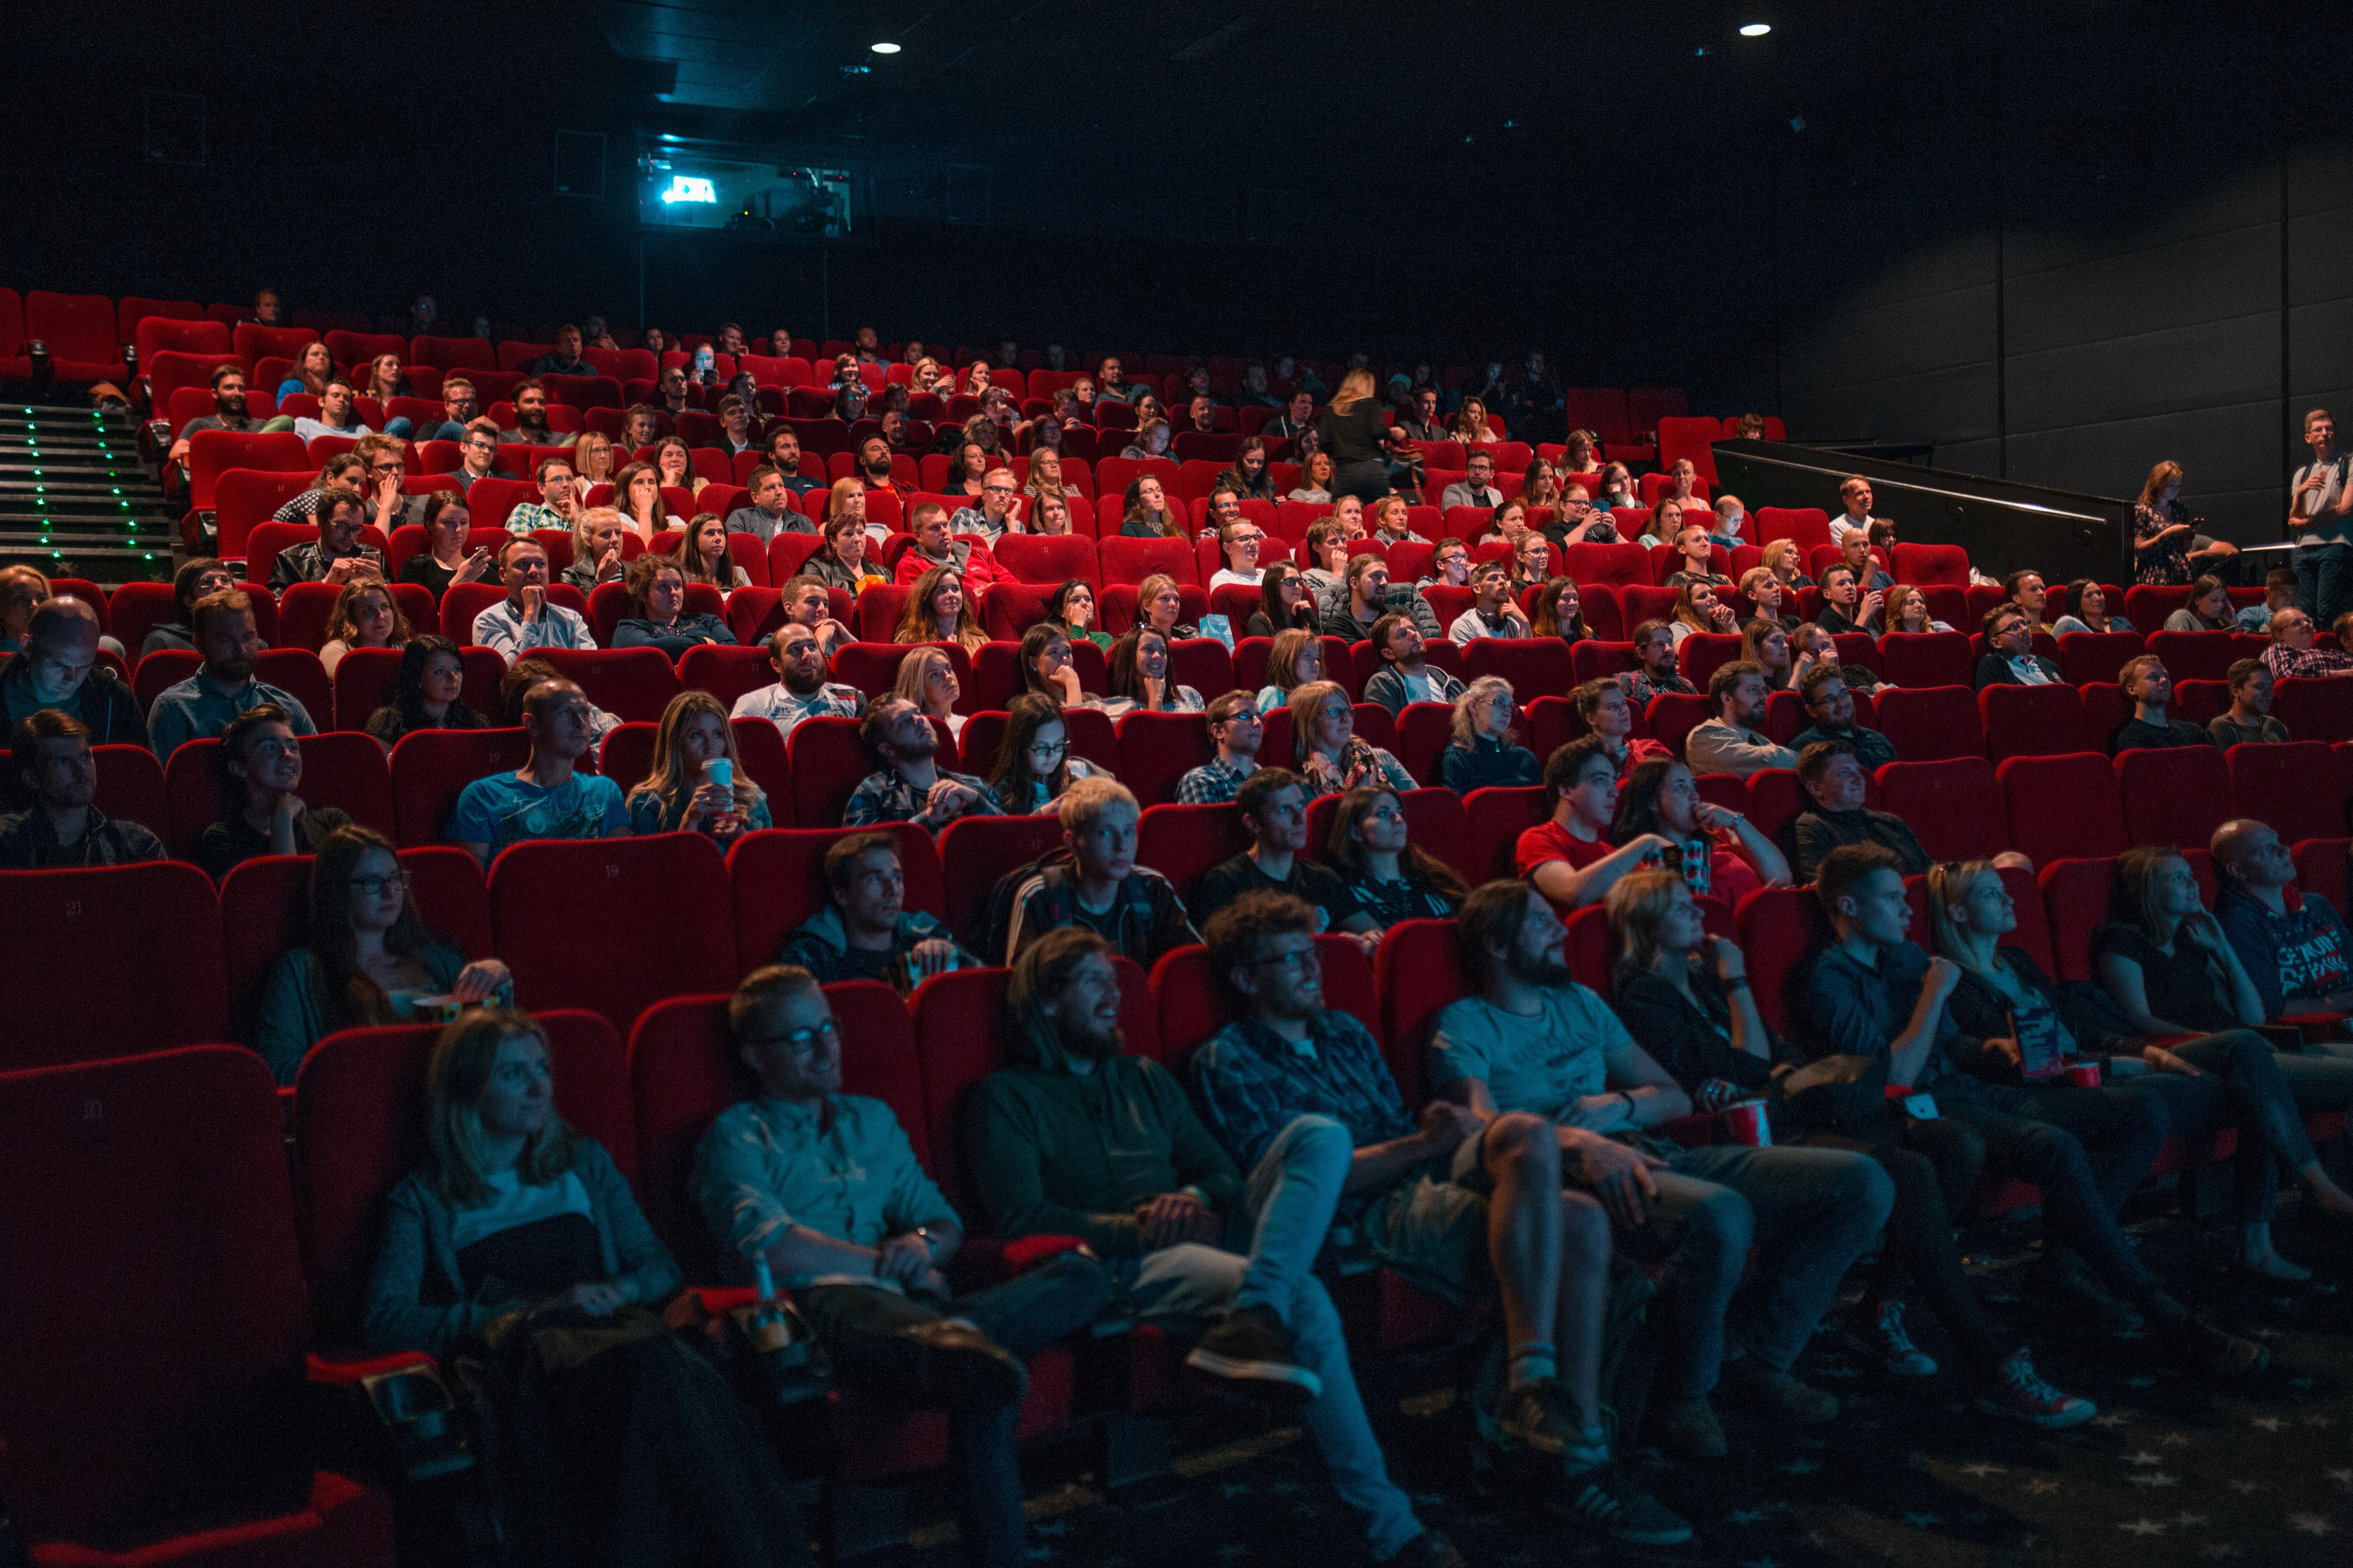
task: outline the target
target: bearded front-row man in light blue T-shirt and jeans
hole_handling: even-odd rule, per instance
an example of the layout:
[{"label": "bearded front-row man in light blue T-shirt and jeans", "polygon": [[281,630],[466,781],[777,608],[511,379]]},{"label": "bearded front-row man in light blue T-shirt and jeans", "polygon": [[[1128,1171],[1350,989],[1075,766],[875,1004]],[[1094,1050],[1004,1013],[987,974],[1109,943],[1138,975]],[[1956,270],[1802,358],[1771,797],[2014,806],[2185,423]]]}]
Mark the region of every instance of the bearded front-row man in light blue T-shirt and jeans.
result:
[{"label": "bearded front-row man in light blue T-shirt and jeans", "polygon": [[[1508,1112],[1551,1121],[1562,1168],[1577,1161],[1619,1246],[1666,1265],[1657,1441],[1687,1458],[1722,1455],[1708,1403],[1718,1387],[1784,1422],[1833,1420],[1838,1401],[1791,1366],[1887,1220],[1887,1173],[1847,1150],[1649,1143],[1645,1133],[1687,1117],[1692,1100],[1600,997],[1569,980],[1553,907],[1525,882],[1489,882],[1457,919],[1478,990],[1438,1013],[1431,1086],[1482,1121]],[[1614,1140],[1617,1154],[1593,1150]],[[1734,1298],[1744,1272],[1753,1288]]]}]

